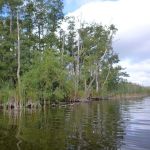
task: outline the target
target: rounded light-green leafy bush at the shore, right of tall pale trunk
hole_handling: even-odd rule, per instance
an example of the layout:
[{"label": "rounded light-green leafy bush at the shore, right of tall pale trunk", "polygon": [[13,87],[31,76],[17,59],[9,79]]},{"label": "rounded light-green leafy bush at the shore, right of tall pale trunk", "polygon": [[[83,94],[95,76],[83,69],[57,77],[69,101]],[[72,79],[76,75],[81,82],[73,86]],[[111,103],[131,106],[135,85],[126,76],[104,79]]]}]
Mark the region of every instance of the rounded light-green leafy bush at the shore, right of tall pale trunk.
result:
[{"label": "rounded light-green leafy bush at the shore, right of tall pale trunk", "polygon": [[47,50],[36,56],[35,65],[22,78],[26,99],[64,100],[69,96],[66,71],[55,55]]}]

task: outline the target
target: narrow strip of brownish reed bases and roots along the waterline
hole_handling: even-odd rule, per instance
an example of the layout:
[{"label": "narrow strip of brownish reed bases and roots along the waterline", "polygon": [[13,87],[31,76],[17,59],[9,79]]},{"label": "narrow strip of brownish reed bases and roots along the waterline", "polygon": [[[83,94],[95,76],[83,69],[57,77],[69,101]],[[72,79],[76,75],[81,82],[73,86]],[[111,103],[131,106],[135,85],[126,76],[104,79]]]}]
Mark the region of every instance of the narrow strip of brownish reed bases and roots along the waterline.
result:
[{"label": "narrow strip of brownish reed bases and roots along the waterline", "polygon": [[[111,94],[103,97],[88,97],[88,98],[78,98],[75,100],[69,101],[55,101],[50,102],[46,101],[45,104],[41,104],[40,102],[32,102],[28,101],[22,107],[15,103],[15,101],[11,101],[11,103],[0,104],[0,110],[20,110],[20,109],[43,109],[43,108],[52,108],[52,107],[66,107],[73,106],[80,103],[91,103],[94,101],[106,101],[106,100],[136,100],[145,97],[149,97],[149,93],[126,93],[126,94]],[[18,107],[19,106],[19,107]]]}]

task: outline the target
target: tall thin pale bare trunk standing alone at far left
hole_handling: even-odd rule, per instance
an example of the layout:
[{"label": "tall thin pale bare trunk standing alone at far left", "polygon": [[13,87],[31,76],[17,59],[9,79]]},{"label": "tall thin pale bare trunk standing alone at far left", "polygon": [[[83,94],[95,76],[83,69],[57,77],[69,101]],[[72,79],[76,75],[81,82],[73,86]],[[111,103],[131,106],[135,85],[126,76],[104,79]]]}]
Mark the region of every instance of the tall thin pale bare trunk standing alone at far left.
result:
[{"label": "tall thin pale bare trunk standing alone at far left", "polygon": [[22,106],[21,102],[21,80],[20,80],[20,25],[19,25],[19,13],[17,11],[17,35],[18,35],[18,45],[17,45],[17,62],[18,62],[18,68],[17,68],[17,79],[18,79],[18,98],[19,98],[19,104]]}]

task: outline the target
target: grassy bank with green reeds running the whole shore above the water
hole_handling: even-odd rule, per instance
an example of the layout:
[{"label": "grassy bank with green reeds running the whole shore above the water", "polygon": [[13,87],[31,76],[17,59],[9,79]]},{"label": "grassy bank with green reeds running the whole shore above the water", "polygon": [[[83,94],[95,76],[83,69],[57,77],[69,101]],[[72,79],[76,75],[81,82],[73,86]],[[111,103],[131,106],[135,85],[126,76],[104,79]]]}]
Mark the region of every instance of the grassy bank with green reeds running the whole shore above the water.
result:
[{"label": "grassy bank with green reeds running the whole shore above the water", "polygon": [[[118,85],[115,91],[100,91],[96,93],[94,90],[90,92],[88,97],[84,91],[80,91],[77,96],[71,95],[68,98],[57,99],[57,97],[51,97],[50,99],[23,99],[23,105],[17,99],[17,91],[5,88],[0,92],[0,108],[5,109],[20,109],[20,108],[43,108],[43,107],[55,107],[63,105],[72,105],[78,102],[90,102],[99,100],[114,100],[114,99],[138,99],[147,97],[150,95],[150,88],[143,87],[137,84],[123,82]],[[57,93],[59,94],[59,93]]]}]

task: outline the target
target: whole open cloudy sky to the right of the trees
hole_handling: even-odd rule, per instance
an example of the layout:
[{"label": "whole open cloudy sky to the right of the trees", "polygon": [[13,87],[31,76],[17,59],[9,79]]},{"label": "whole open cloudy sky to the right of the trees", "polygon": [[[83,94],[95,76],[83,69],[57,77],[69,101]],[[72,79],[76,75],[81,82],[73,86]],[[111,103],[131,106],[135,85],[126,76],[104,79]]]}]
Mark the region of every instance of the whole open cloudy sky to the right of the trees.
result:
[{"label": "whole open cloudy sky to the right of the trees", "polygon": [[129,81],[150,86],[150,0],[64,0],[67,15],[118,28],[114,50]]}]

